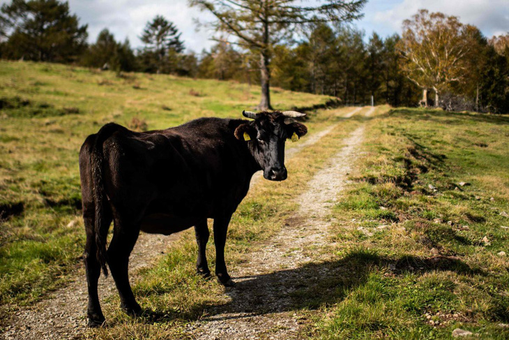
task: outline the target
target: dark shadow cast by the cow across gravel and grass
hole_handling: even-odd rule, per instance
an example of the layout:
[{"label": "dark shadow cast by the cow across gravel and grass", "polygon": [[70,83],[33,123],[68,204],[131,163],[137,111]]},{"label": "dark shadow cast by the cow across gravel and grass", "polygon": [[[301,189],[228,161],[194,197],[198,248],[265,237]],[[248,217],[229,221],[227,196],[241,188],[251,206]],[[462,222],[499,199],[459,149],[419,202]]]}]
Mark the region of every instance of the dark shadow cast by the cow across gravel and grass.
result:
[{"label": "dark shadow cast by the cow across gravel and grass", "polygon": [[[317,309],[319,306],[342,300],[349,290],[362,286],[370,273],[377,268],[386,268],[388,275],[405,272],[423,274],[445,270],[458,274],[485,275],[480,269],[472,269],[455,257],[404,256],[395,259],[366,251],[355,251],[340,260],[309,263],[295,269],[281,269],[270,274],[234,276],[236,286],[225,289],[225,293],[231,298],[229,302],[219,305],[193,306],[192,309],[199,313],[192,314],[200,316],[184,318],[189,321],[226,320],[267,313]],[[149,323],[168,320],[167,313],[163,316],[163,313],[146,310],[144,315]],[[206,316],[202,317],[204,315]],[[182,318],[182,315],[175,315],[175,318]]]}]

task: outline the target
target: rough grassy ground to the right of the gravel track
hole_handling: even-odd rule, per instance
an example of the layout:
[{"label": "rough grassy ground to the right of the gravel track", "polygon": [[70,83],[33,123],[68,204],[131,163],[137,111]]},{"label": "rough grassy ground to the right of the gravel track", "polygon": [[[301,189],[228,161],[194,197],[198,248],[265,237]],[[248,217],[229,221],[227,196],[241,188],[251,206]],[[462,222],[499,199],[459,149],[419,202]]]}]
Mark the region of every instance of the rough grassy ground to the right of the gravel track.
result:
[{"label": "rough grassy ground to the right of the gravel track", "polygon": [[400,109],[366,132],[328,249],[349,274],[324,283],[310,334],[508,339],[509,117]]}]

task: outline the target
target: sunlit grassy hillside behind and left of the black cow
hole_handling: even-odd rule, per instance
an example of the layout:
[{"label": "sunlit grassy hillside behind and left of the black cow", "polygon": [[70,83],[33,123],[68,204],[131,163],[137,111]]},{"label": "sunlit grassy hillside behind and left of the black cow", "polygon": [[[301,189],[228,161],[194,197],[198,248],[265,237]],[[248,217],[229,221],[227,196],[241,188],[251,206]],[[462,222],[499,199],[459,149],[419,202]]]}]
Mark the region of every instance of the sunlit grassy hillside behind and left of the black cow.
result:
[{"label": "sunlit grassy hillside behind and left of the black cow", "polygon": [[[133,117],[149,129],[240,117],[258,98],[258,87],[234,82],[0,61],[0,207],[17,208],[0,226],[0,303],[30,302],[78,263],[84,230],[77,154],[86,135]],[[280,109],[327,100],[273,91]]]}]

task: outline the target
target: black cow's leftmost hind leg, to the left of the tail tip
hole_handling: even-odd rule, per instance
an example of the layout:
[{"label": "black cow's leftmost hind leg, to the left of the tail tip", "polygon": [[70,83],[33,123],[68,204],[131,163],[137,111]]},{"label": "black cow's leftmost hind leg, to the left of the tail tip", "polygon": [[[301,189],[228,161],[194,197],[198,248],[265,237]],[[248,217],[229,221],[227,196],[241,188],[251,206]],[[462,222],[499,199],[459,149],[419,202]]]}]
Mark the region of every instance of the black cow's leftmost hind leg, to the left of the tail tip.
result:
[{"label": "black cow's leftmost hind leg, to the left of the tail tip", "polygon": [[[86,244],[85,252],[83,254],[85,270],[86,270],[86,284],[89,291],[89,305],[86,309],[86,314],[89,318],[89,327],[98,327],[105,322],[105,316],[102,314],[100,308],[99,295],[98,295],[98,281],[100,276],[100,263],[96,258],[96,234],[93,231],[93,208],[88,213],[84,209],[84,223],[86,230]],[[106,214],[105,214],[106,215]],[[111,216],[105,216],[102,223],[109,225],[112,223]]]}]

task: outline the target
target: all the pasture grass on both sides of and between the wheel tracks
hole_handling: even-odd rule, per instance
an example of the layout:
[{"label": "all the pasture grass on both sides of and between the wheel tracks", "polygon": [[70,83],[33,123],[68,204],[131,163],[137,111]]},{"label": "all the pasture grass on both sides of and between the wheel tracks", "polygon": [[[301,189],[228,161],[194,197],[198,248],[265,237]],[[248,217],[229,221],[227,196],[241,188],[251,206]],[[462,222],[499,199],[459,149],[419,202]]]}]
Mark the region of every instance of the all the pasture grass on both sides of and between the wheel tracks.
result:
[{"label": "all the pasture grass on both sides of and between the wheel tracks", "polygon": [[[0,86],[0,205],[12,214],[0,231],[4,304],[40,298],[79,263],[77,151],[87,134],[133,117],[148,128],[238,117],[259,95],[231,82],[29,63],[1,63]],[[328,100],[276,92],[278,108]],[[327,260],[299,268],[314,280],[291,293],[301,337],[450,339],[459,327],[476,339],[508,339],[509,260],[501,253],[509,253],[508,115],[382,106],[371,117],[342,118],[348,110],[310,114],[310,135],[339,126],[287,161],[286,181],[250,191],[229,228],[229,271],[291,223],[295,198],[364,125],[363,152],[331,212],[329,242],[307,250]],[[183,232],[153,267],[135,273],[144,315],[126,316],[113,295],[102,304],[108,327],[88,337],[190,337],[189,327],[213,306],[231,303],[222,286],[195,275],[195,254],[192,230]],[[208,246],[212,268],[214,257]]]}]

